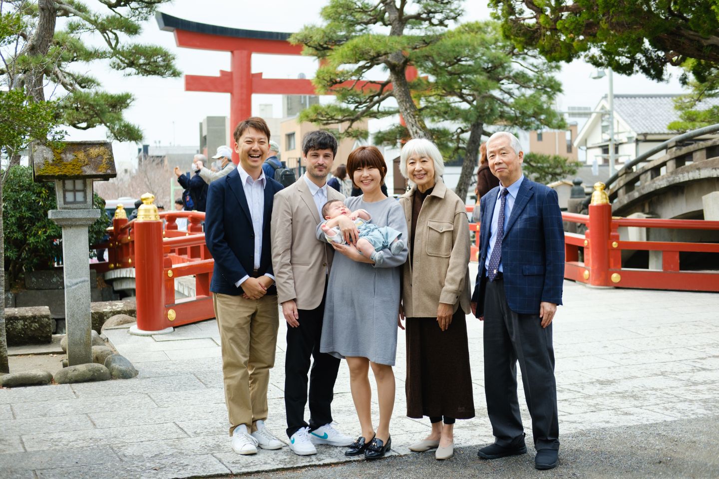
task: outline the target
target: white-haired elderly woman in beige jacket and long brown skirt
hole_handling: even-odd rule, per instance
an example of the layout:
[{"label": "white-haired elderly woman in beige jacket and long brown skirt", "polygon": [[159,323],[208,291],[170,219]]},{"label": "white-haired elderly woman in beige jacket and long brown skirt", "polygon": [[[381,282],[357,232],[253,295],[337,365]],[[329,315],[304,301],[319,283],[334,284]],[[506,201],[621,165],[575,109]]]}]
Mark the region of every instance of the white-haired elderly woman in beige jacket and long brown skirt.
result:
[{"label": "white-haired elderly woman in beige jacket and long brown skirt", "polygon": [[[464,202],[444,185],[444,161],[429,140],[407,142],[400,172],[412,187],[400,198],[409,232],[399,326],[406,317],[407,416],[429,417],[429,436],[410,446],[454,453],[454,420],[475,417],[467,322],[470,231]],[[404,329],[404,328],[403,328]]]}]

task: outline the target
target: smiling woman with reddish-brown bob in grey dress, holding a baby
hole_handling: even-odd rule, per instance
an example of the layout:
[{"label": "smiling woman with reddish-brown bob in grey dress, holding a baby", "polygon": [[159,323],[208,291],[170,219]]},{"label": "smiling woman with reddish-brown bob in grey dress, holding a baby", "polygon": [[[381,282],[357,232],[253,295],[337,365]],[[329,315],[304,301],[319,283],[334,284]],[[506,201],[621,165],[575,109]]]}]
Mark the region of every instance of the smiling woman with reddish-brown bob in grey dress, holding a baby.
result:
[{"label": "smiling woman with reddish-brown bob in grey dress, holding a baby", "polygon": [[[362,195],[349,197],[345,204],[350,210],[364,209],[372,215],[372,223],[390,226],[407,237],[407,223],[400,205],[386,197],[381,185],[387,166],[375,147],[359,147],[347,158],[347,172]],[[401,266],[407,259],[407,247],[393,255],[385,249],[381,266],[362,256],[353,244],[357,228],[347,217],[339,228],[347,245],[332,243],[340,253],[334,255],[324,309],[324,323],[320,351],[337,358],[346,358],[354,408],[362,427],[362,434],[345,452],[364,453],[368,459],[382,457],[390,450],[390,417],[395,403],[395,376],[392,366],[397,351],[397,310],[400,304]],[[324,233],[317,228],[321,241]],[[369,368],[377,381],[380,421],[372,425],[370,401],[372,390]]]}]

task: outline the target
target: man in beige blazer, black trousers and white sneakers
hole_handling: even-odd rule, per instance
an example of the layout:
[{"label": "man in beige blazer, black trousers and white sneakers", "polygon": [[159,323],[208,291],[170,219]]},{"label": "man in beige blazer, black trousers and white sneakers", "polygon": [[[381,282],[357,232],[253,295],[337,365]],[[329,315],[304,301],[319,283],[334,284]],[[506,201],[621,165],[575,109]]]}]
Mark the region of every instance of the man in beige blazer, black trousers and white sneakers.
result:
[{"label": "man in beige blazer, black trousers and white sneakers", "polygon": [[[321,209],[344,196],[327,187],[337,140],[326,131],[302,139],[307,172],[275,195],[271,236],[278,302],[288,324],[285,353],[285,409],[290,449],[316,454],[316,444],[349,446],[352,437],[332,427],[331,402],[339,359],[319,352],[327,278],[334,250],[317,239]],[[304,419],[309,380],[310,421]]]}]

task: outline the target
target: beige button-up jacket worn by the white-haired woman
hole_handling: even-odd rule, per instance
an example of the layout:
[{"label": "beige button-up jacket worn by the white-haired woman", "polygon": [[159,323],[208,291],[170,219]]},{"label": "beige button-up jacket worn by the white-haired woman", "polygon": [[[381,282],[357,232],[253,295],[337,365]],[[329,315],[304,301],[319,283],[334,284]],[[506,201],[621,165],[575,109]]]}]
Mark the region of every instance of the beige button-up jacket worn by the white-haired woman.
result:
[{"label": "beige button-up jacket worn by the white-haired woman", "polygon": [[[417,190],[400,197],[412,231],[412,201]],[[407,238],[410,241],[411,238]],[[402,304],[406,317],[436,317],[440,302],[470,312],[470,228],[464,203],[439,180],[417,218],[413,261],[403,266]]]}]

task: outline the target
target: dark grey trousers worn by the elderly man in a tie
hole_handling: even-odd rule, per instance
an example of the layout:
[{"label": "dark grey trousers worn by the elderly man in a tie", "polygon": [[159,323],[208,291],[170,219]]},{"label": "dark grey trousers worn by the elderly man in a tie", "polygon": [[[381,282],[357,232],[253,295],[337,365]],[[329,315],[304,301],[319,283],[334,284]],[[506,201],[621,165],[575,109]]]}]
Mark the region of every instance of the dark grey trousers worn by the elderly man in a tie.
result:
[{"label": "dark grey trousers worn by the elderly man in a tie", "polygon": [[559,449],[557,383],[551,324],[541,327],[539,311],[523,315],[509,309],[504,282],[487,281],[485,289],[485,396],[498,445],[508,446],[523,434],[517,399],[517,362],[532,418],[534,447]]}]

